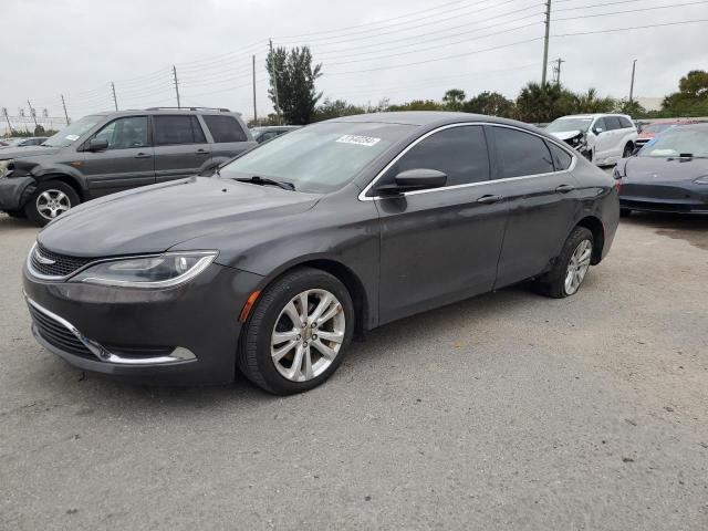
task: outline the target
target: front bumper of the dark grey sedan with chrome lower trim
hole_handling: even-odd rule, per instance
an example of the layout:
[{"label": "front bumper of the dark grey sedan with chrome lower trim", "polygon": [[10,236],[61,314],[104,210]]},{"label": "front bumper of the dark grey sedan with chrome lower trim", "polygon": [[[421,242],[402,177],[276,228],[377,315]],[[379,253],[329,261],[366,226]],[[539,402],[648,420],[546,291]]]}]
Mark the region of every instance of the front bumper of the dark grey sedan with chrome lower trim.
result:
[{"label": "front bumper of the dark grey sedan with chrome lower trim", "polygon": [[160,385],[233,379],[238,315],[261,281],[218,264],[166,290],[42,282],[24,271],[42,346],[84,371]]}]

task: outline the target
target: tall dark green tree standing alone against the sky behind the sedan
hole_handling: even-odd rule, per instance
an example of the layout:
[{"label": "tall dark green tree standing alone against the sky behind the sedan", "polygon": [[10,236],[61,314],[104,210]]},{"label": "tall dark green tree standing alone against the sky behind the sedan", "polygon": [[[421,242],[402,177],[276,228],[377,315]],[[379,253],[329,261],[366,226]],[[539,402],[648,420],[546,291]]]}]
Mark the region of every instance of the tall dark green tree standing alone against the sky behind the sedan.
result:
[{"label": "tall dark green tree standing alone against the sky behind the sedan", "polygon": [[312,53],[308,46],[293,48],[290,52],[278,48],[269,52],[266,67],[270,74],[268,95],[273,105],[289,124],[309,124],[322,97],[314,86],[315,80],[322,75],[322,64],[312,66]]}]

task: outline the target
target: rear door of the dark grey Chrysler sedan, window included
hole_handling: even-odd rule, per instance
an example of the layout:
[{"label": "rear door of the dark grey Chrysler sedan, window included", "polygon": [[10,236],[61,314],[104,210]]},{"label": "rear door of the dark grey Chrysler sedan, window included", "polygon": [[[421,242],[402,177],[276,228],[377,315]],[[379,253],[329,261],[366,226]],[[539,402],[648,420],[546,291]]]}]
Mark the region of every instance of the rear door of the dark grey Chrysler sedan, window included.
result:
[{"label": "rear door of the dark grey Chrysler sedan, window included", "polygon": [[573,158],[565,148],[519,128],[488,129],[493,179],[509,208],[494,283],[501,288],[548,268],[568,236],[577,191],[569,171]]}]

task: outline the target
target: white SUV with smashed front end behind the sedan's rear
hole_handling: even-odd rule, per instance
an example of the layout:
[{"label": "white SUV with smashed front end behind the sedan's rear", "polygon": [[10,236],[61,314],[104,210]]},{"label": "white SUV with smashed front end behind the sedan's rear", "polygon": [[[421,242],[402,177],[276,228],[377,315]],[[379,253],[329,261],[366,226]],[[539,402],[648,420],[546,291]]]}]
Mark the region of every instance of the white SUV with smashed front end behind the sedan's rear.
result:
[{"label": "white SUV with smashed front end behind the sedan's rear", "polygon": [[634,122],[624,114],[563,116],[549,124],[546,131],[597,166],[628,157],[637,139]]}]

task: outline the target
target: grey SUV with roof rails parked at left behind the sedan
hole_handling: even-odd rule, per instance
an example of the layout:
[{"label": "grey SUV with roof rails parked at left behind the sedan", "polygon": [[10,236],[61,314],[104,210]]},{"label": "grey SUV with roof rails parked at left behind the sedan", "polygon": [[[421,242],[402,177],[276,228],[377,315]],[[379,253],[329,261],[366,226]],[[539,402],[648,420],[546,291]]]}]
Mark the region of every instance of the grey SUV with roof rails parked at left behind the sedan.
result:
[{"label": "grey SUV with roof rails parked at left behind the sedan", "polygon": [[41,146],[0,149],[0,210],[43,226],[80,202],[207,171],[254,146],[228,110],[85,116]]}]

